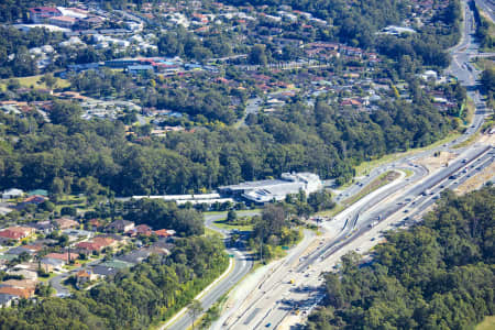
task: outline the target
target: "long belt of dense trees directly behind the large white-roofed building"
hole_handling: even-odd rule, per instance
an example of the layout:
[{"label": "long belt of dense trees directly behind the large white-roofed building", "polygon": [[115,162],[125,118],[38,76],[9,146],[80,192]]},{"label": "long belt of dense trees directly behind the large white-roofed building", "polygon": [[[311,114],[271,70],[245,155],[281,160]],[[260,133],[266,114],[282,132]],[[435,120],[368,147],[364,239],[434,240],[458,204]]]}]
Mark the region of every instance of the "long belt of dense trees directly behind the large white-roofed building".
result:
[{"label": "long belt of dense trees directly behind the large white-roofed building", "polygon": [[74,178],[68,188],[84,193],[84,178],[118,196],[184,194],[292,170],[343,183],[353,165],[428,145],[454,128],[417,92],[415,103],[391,100],[371,114],[339,112],[324,99],[315,107],[296,99],[282,114],[258,114],[250,127],[218,125],[136,143],[129,143],[121,121],[85,121],[74,103],[55,102],[52,123],[0,114],[0,188],[50,188],[57,178]]}]

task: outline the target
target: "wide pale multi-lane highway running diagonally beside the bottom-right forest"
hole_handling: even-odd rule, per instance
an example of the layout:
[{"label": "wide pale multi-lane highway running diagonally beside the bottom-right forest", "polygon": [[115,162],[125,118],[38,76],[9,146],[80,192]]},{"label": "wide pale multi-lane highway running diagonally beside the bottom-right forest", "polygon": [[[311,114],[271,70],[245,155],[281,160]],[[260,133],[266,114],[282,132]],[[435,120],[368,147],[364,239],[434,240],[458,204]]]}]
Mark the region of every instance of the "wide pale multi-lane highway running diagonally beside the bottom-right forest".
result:
[{"label": "wide pale multi-lane highway running diagonally beside the bottom-right forest", "polygon": [[[343,230],[337,235],[327,233],[318,245],[293,256],[272,276],[251,293],[241,308],[232,311],[221,329],[275,329],[296,310],[309,310],[320,298],[319,274],[329,271],[328,260],[351,243],[359,245],[364,233],[383,221],[395,226],[411,223],[438,198],[446,188],[454,188],[473,173],[494,162],[494,148],[472,147],[464,151],[450,166],[429,174],[420,184],[404,187],[404,178],[383,187],[337,216]],[[394,193],[396,191],[396,193]]]}]

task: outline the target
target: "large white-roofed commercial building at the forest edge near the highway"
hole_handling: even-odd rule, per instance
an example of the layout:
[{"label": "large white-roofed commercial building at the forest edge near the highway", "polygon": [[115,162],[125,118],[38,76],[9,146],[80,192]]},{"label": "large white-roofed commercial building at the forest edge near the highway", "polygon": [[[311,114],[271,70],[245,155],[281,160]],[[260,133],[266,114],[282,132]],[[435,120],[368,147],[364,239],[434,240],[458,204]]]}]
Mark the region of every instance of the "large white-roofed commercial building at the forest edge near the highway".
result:
[{"label": "large white-roofed commercial building at the forest edge near the highway", "polygon": [[322,188],[320,177],[312,173],[284,173],[280,179],[267,179],[219,187],[219,193],[248,199],[256,204],[283,200],[287,195],[307,195]]}]

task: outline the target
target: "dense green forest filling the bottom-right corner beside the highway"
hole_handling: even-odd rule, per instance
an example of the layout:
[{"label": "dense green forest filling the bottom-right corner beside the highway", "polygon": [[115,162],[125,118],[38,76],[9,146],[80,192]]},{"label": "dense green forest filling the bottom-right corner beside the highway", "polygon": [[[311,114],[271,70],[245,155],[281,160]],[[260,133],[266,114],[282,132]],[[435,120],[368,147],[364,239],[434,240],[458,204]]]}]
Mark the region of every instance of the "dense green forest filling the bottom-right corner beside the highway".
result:
[{"label": "dense green forest filling the bottom-right corner beside the highway", "polygon": [[387,234],[371,265],[343,257],[307,329],[472,329],[495,309],[494,215],[495,188],[448,191],[422,224]]}]

